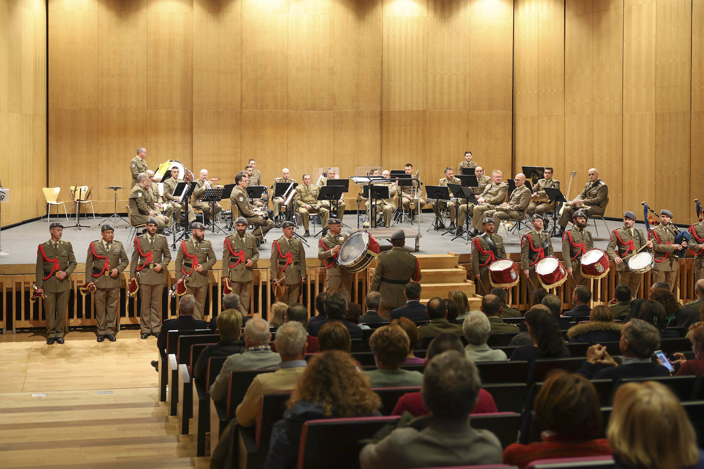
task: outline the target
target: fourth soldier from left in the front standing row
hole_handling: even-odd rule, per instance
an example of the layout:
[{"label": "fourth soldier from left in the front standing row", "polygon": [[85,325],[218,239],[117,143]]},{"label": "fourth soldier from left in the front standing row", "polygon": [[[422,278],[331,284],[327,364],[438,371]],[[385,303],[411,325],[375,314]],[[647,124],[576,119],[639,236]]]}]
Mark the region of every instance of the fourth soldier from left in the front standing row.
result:
[{"label": "fourth soldier from left in the front standing row", "polygon": [[206,226],[200,221],[191,224],[191,238],[181,241],[176,254],[176,281],[183,276],[186,280],[186,293],[196,297],[193,317],[202,320],[205,316],[206,295],[210,287],[210,269],[215,265],[215,251],[206,240]]}]

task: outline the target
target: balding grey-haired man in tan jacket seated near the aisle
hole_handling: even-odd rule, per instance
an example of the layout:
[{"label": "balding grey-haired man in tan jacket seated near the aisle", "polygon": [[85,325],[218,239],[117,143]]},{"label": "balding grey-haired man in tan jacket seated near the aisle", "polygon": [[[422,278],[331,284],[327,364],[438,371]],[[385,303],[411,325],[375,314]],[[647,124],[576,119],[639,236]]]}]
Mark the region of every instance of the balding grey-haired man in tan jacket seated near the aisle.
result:
[{"label": "balding grey-haired man in tan jacket seated near the aisle", "polygon": [[252,380],[247,393],[235,409],[237,423],[242,427],[251,427],[257,422],[259,400],[264,394],[293,390],[298,378],[306,371],[308,344],[306,329],[301,323],[284,323],[276,331],[275,342],[281,356],[279,369],[274,373],[260,373]]}]

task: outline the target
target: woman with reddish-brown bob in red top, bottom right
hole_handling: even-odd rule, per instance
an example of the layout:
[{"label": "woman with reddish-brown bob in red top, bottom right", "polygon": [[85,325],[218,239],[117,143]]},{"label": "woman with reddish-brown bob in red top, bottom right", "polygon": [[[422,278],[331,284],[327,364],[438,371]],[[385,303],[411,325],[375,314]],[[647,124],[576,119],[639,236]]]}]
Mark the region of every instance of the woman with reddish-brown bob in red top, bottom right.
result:
[{"label": "woman with reddish-brown bob in red top, bottom right", "polygon": [[531,461],[611,454],[601,435],[599,398],[589,380],[576,373],[553,370],[534,402],[530,444],[512,443],[503,463],[525,468]]}]

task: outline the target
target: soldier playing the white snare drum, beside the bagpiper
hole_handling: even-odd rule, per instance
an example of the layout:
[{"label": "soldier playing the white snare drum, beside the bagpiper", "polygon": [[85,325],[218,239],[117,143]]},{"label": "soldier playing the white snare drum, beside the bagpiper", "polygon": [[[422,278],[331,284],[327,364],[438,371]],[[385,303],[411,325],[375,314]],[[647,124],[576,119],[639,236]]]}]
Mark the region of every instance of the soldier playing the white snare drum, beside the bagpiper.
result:
[{"label": "soldier playing the white snare drum, beside the bagpiper", "polygon": [[643,274],[629,269],[623,258],[627,255],[636,253],[646,245],[649,249],[653,249],[653,241],[648,240],[643,236],[643,231],[633,227],[636,221],[636,214],[628,210],[623,214],[623,226],[611,232],[609,245],[606,248],[606,254],[616,264],[617,285],[628,285],[631,288],[631,300],[638,295]]}]

